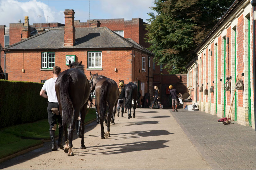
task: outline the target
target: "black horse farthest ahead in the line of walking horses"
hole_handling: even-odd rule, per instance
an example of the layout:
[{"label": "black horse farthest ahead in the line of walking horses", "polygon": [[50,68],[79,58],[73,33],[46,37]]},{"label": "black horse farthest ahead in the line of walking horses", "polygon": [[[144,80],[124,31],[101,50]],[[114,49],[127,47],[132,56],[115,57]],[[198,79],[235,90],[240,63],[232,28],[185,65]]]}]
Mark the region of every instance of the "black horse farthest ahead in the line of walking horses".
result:
[{"label": "black horse farthest ahead in the line of walking horses", "polygon": [[[135,118],[135,109],[136,109],[136,98],[138,95],[138,87],[136,84],[134,83],[128,83],[125,86],[125,98],[126,98],[126,102],[125,102],[125,107],[128,110],[128,119],[130,119],[132,117],[132,101],[133,101],[133,118]],[[130,112],[129,112],[130,110]]]}]

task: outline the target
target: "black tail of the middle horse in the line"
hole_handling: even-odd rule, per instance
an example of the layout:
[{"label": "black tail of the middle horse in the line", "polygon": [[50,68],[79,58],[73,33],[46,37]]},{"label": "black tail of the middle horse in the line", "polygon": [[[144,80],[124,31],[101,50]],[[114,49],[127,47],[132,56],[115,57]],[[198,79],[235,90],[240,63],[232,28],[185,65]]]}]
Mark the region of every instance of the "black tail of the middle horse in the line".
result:
[{"label": "black tail of the middle horse in the line", "polygon": [[106,95],[107,95],[107,88],[108,88],[108,81],[104,81],[101,84],[101,91],[100,91],[100,118],[104,119],[106,114]]}]

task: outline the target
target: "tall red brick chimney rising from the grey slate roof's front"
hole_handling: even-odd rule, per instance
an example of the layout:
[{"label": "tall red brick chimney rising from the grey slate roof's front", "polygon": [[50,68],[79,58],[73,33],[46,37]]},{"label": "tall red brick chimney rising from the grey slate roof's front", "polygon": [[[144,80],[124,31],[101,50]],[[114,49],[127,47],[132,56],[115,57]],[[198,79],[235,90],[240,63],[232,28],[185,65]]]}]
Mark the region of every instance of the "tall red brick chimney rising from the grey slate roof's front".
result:
[{"label": "tall red brick chimney rising from the grey slate roof's front", "polygon": [[74,46],[76,30],[74,27],[74,10],[65,9],[64,46]]}]

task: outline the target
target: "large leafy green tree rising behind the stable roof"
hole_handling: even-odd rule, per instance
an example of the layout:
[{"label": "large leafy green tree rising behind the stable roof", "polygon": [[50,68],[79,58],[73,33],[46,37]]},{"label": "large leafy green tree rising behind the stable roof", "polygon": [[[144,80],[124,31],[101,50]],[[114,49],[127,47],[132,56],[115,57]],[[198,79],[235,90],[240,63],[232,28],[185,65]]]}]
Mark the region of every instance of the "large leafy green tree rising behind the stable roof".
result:
[{"label": "large leafy green tree rising behind the stable roof", "polygon": [[186,73],[194,50],[224,15],[233,1],[155,0],[146,26],[149,50],[155,61],[165,64],[171,74]]}]

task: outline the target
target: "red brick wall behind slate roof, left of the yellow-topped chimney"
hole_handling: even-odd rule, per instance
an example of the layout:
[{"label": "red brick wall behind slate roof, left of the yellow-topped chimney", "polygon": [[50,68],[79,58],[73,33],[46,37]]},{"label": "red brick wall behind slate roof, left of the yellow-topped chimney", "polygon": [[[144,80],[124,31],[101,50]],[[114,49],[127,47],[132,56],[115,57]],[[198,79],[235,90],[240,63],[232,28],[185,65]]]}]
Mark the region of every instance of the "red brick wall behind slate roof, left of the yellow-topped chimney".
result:
[{"label": "red brick wall behind slate roof, left of the yellow-topped chimney", "polygon": [[21,41],[21,32],[24,23],[10,23],[10,45]]}]

